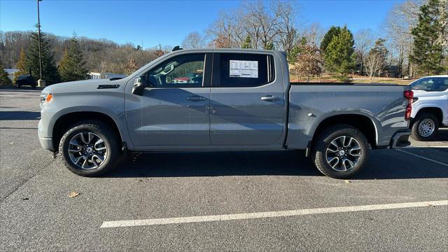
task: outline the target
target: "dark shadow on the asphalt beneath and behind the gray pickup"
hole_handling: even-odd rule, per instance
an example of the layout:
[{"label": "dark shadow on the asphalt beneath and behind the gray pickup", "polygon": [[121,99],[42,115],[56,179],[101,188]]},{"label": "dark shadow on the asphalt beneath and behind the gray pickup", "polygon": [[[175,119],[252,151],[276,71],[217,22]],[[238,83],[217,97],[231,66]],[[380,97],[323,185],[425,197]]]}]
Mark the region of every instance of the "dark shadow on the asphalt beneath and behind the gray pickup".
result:
[{"label": "dark shadow on the asphalt beneath and behind the gray pickup", "polygon": [[[106,177],[323,176],[302,151],[148,153],[125,162]],[[448,178],[442,165],[393,150],[374,150],[351,179]]]}]

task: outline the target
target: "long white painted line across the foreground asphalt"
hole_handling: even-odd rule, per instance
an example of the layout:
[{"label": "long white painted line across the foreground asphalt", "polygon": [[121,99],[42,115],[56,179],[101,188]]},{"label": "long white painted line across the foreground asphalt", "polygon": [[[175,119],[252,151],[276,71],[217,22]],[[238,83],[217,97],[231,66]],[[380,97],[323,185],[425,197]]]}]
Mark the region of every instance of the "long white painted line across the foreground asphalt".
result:
[{"label": "long white painted line across the foreground asphalt", "polygon": [[353,211],[404,209],[412,207],[429,207],[429,206],[446,206],[446,205],[448,205],[448,200],[439,200],[432,202],[407,202],[397,204],[375,204],[375,205],[352,206],[352,207],[297,209],[288,211],[269,211],[269,212],[247,213],[247,214],[223,214],[213,216],[153,218],[146,220],[130,220],[130,221],[104,221],[100,228],[120,228],[120,227],[133,227],[141,225],[167,225],[167,224],[179,224],[179,223],[203,223],[209,221],[232,221],[232,220],[246,220],[253,218],[275,218],[286,216],[302,216],[309,214],[332,214],[332,213],[344,213]]}]

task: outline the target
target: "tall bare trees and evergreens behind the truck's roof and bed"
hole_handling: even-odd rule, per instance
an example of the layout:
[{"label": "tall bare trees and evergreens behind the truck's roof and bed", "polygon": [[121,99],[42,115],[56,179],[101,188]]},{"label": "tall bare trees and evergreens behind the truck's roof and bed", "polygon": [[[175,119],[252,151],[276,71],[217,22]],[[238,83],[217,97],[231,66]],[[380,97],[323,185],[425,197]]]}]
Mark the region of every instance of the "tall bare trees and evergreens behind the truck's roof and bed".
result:
[{"label": "tall bare trees and evergreens behind the truck's roof and bed", "polygon": [[189,34],[183,45],[284,50],[290,69],[307,79],[324,71],[341,80],[348,73],[414,78],[448,71],[447,0],[396,3],[378,33],[304,25],[300,10],[297,1],[244,2],[221,12],[203,35]]}]

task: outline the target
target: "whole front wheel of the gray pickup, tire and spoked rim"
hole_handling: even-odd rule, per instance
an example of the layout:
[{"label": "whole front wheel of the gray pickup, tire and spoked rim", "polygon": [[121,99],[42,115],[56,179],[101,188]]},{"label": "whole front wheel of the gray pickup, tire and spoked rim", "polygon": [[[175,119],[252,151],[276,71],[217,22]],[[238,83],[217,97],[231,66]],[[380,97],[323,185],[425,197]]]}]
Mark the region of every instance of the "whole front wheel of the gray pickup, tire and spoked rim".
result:
[{"label": "whole front wheel of the gray pickup, tire and spoked rim", "polygon": [[105,123],[85,121],[73,125],[59,142],[66,167],[80,176],[99,176],[120,161],[116,132]]}]

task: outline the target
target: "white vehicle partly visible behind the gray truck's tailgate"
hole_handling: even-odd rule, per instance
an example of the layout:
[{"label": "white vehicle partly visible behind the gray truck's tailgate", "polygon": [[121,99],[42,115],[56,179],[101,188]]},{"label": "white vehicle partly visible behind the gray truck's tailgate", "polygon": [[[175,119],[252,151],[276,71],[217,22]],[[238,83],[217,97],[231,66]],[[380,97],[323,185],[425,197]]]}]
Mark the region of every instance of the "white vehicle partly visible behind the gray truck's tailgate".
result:
[{"label": "white vehicle partly visible behind the gray truck's tailgate", "polygon": [[439,127],[448,127],[448,75],[419,78],[409,85],[414,90],[412,137],[430,141]]}]

